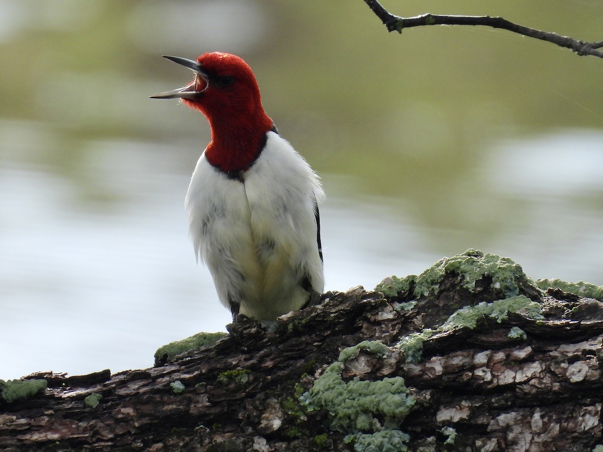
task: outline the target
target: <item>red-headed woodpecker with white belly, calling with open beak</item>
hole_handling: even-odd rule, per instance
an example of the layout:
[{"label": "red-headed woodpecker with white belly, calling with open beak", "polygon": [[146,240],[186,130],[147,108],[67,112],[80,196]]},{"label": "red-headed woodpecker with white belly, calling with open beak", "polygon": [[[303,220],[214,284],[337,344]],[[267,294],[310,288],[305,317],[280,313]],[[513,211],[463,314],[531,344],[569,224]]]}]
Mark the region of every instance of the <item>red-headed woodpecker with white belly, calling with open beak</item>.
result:
[{"label": "red-headed woodpecker with white belly, calling with open beak", "polygon": [[185,210],[195,256],[209,268],[219,300],[235,322],[274,321],[318,303],[324,191],[265,113],[251,67],[224,52],[163,57],[191,69],[194,80],[150,97],[180,99],[211,129]]}]

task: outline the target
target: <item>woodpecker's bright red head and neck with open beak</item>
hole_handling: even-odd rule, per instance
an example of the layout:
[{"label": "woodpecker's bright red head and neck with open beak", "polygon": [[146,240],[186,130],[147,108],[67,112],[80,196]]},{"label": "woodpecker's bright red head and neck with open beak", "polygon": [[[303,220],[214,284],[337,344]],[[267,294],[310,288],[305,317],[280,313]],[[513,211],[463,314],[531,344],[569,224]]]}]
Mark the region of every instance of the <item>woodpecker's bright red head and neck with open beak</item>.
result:
[{"label": "woodpecker's bright red head and neck with open beak", "polygon": [[197,61],[165,57],[195,73],[187,86],[156,94],[152,98],[180,98],[185,105],[206,116],[212,142],[206,157],[224,171],[247,169],[259,152],[260,142],[274,127],[260,99],[251,67],[236,55],[209,52]]}]

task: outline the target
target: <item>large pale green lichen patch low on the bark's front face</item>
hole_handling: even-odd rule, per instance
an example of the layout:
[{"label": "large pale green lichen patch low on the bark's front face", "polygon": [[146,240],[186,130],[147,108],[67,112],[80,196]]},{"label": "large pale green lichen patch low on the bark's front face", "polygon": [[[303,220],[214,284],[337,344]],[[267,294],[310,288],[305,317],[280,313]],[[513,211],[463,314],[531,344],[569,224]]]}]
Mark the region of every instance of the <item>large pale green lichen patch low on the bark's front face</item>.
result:
[{"label": "large pale green lichen patch low on the bark's front face", "polygon": [[[300,402],[309,411],[327,410],[330,428],[354,435],[353,438],[350,436],[350,441],[356,441],[358,447],[368,441],[371,435],[362,439],[362,435],[367,432],[397,432],[397,426],[415,404],[415,398],[409,394],[402,377],[385,377],[376,381],[360,380],[356,377],[351,381],[344,381],[341,378],[344,362],[358,356],[360,350],[370,351],[381,357],[387,355],[387,347],[379,341],[364,341],[355,347],[344,349],[339,354],[339,359],[314,381],[312,389],[300,397]],[[375,438],[388,435],[397,435],[397,438],[400,438],[397,433]]]}]

